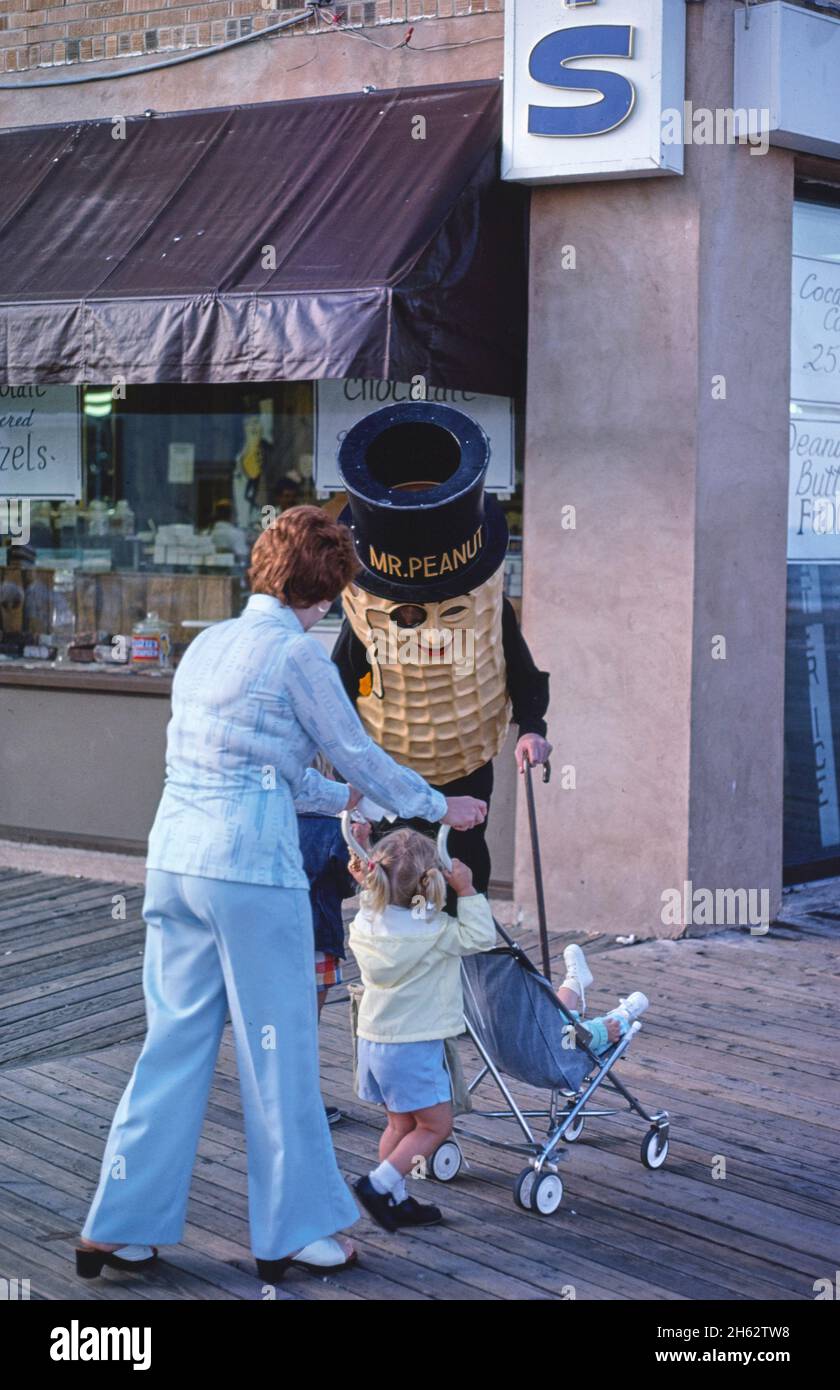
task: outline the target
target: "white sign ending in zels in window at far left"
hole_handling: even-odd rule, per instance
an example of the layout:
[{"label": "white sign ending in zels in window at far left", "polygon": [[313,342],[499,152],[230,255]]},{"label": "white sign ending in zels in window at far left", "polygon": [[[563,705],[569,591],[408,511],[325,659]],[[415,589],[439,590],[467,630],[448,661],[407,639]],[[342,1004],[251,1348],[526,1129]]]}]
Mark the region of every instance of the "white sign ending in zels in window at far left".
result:
[{"label": "white sign ending in zels in window at far left", "polygon": [[0,498],[82,496],[76,386],[0,386]]}]

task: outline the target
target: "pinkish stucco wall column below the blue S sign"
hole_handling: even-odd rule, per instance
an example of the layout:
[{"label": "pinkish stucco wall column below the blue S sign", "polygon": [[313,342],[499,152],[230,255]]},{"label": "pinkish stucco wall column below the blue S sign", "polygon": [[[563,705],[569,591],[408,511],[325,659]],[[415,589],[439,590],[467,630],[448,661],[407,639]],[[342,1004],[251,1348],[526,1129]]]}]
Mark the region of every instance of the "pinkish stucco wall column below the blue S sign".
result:
[{"label": "pinkish stucco wall column below the blue S sign", "polygon": [[[732,103],[720,8],[688,10],[695,107]],[[791,204],[793,156],[737,146],[534,192],[524,626],[552,673],[537,799],[566,930],[676,935],[662,892],[686,880],[777,903]]]}]

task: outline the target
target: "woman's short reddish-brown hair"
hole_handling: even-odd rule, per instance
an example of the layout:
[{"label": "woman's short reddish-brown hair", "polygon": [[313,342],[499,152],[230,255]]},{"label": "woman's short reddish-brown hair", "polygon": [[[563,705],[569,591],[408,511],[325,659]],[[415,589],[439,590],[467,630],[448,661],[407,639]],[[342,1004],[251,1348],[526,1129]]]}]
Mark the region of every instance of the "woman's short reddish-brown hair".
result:
[{"label": "woman's short reddish-brown hair", "polygon": [[289,507],[257,538],[248,580],[289,607],[332,602],[360,570],[353,539],[321,507]]}]

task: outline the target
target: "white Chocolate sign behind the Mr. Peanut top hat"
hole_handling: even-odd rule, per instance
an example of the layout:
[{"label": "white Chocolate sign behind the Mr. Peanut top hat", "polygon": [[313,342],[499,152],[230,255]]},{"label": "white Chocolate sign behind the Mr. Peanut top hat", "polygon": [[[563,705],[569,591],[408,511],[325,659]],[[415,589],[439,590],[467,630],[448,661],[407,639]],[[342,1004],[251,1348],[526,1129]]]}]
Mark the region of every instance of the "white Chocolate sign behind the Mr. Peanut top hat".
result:
[{"label": "white Chocolate sign behind the Mr. Peanut top hat", "polygon": [[[341,442],[359,420],[401,402],[412,400],[412,388],[399,381],[318,381],[316,385],[314,485],[320,493],[344,492],[338,475]],[[509,396],[481,396],[471,391],[430,386],[427,400],[453,406],[481,425],[490,439],[488,492],[510,493],[516,488],[513,402]]]}]

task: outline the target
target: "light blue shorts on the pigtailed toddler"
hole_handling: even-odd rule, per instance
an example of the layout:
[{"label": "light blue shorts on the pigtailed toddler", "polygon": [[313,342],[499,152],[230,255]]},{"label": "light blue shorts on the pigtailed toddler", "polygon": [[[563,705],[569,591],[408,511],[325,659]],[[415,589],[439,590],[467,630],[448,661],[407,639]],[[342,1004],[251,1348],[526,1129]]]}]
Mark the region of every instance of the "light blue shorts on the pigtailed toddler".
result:
[{"label": "light blue shorts on the pigtailed toddler", "polygon": [[357,1093],[395,1115],[452,1099],[444,1042],[369,1042],[359,1038]]}]

